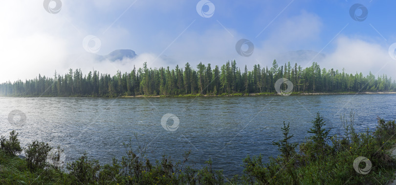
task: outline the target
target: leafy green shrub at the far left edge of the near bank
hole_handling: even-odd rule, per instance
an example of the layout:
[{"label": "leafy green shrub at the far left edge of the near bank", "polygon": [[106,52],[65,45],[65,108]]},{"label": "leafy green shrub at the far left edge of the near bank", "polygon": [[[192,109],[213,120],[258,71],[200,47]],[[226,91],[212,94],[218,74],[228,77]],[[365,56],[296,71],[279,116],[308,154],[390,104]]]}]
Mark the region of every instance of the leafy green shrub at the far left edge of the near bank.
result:
[{"label": "leafy green shrub at the far left edge of the near bank", "polygon": [[5,153],[15,156],[22,152],[22,148],[20,142],[18,140],[18,132],[16,133],[15,130],[10,132],[9,139],[5,139],[4,136],[0,138],[0,149]]}]

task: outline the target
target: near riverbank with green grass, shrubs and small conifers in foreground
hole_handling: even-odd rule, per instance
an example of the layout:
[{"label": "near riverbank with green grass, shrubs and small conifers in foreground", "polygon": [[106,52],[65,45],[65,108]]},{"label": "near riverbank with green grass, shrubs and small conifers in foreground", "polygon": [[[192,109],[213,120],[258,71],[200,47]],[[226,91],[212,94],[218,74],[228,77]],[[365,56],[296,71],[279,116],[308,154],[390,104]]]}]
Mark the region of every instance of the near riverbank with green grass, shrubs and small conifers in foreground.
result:
[{"label": "near riverbank with green grass, shrubs and small conifers in foreground", "polygon": [[376,129],[364,133],[356,133],[353,124],[351,113],[349,119],[342,120],[342,134],[330,136],[318,113],[307,131],[310,137],[296,144],[290,143],[293,136],[288,133],[293,128],[284,123],[280,128],[283,139],[272,141],[280,155],[265,160],[268,163],[262,156],[247,156],[241,159],[243,172],[233,178],[214,170],[210,159],[201,167],[186,166],[190,152],[178,162],[169,156],[152,161],[144,146],[132,149],[136,148],[134,140],[124,144],[127,155],[113,159],[112,164],[101,166],[84,153],[62,170],[65,168],[53,165],[62,164],[61,158],[48,158],[51,147],[44,143],[28,144],[24,149],[27,158],[16,157],[22,148],[19,136],[10,133],[9,139],[0,139],[0,184],[386,184],[396,171],[390,151],[396,143],[395,121],[378,119]]}]

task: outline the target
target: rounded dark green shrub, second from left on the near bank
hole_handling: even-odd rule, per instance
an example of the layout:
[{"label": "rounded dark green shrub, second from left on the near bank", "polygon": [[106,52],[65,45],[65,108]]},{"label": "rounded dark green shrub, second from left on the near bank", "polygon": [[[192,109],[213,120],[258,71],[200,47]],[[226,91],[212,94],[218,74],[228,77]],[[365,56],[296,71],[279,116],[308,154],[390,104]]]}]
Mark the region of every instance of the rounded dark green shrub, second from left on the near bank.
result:
[{"label": "rounded dark green shrub, second from left on the near bank", "polygon": [[52,149],[48,143],[38,142],[34,140],[33,143],[27,145],[26,161],[30,169],[44,168],[48,165],[46,162],[48,152]]}]

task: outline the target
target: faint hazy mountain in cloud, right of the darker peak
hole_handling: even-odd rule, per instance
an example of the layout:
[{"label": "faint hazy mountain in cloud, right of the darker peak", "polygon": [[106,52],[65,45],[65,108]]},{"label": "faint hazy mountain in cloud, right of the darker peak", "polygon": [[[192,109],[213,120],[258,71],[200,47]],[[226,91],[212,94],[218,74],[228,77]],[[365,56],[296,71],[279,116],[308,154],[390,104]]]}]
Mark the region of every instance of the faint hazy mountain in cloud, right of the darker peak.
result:
[{"label": "faint hazy mountain in cloud, right of the darker peak", "polygon": [[278,62],[290,63],[306,63],[306,62],[321,62],[326,58],[325,54],[318,53],[311,50],[297,50],[281,53],[276,57]]}]

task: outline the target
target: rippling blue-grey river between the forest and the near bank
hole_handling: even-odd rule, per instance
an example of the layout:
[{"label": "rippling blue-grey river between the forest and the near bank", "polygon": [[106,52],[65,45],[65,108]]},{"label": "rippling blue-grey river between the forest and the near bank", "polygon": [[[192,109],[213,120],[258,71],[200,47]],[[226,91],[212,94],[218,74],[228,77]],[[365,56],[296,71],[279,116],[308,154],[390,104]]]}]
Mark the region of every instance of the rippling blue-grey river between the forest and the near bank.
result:
[{"label": "rippling blue-grey river between the forest and the near bank", "polygon": [[[229,176],[242,174],[242,159],[246,155],[262,154],[267,161],[269,156],[279,154],[272,142],[282,139],[283,121],[290,123],[293,141],[303,142],[309,136],[310,121],[318,111],[324,117],[326,127],[331,129],[330,134],[339,134],[343,133],[341,115],[345,114],[349,119],[349,113],[353,111],[358,132],[366,128],[373,130],[378,116],[385,120],[396,118],[395,105],[396,94],[0,97],[0,135],[8,137],[8,132],[15,129],[20,133],[23,146],[37,139],[52,146],[61,145],[65,149],[66,162],[87,151],[101,164],[110,163],[112,157],[125,156],[123,142],[132,137],[134,148],[137,141],[147,146],[151,161],[162,155],[171,156],[175,161],[182,160],[182,154],[191,150],[190,165],[199,166],[211,158],[214,168],[223,169]],[[14,113],[18,114],[10,122]],[[168,115],[172,117],[166,122]]]}]

